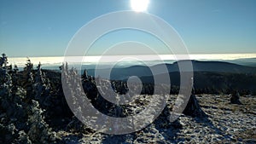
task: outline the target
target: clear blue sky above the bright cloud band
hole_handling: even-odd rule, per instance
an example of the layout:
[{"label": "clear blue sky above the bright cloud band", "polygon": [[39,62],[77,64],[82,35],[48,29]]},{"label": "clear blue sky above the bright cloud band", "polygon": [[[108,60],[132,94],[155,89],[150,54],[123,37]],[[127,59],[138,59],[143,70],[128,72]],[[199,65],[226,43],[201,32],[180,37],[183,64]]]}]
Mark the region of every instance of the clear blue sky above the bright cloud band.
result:
[{"label": "clear blue sky above the bright cloud band", "polygon": [[[119,10],[131,10],[130,0],[1,0],[0,52],[62,56],[81,26]],[[191,54],[256,53],[255,0],[150,0],[148,13],[173,26]]]}]

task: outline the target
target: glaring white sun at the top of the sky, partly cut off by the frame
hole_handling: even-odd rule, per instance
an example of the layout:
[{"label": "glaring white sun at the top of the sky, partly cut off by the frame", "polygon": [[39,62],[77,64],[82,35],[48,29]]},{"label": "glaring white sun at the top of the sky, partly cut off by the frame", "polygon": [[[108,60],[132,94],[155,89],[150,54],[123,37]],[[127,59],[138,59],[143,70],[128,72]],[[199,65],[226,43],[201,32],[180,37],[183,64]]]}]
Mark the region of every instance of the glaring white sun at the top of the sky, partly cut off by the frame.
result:
[{"label": "glaring white sun at the top of the sky, partly cut off by the frame", "polygon": [[136,12],[147,11],[149,0],[131,0],[131,9]]}]

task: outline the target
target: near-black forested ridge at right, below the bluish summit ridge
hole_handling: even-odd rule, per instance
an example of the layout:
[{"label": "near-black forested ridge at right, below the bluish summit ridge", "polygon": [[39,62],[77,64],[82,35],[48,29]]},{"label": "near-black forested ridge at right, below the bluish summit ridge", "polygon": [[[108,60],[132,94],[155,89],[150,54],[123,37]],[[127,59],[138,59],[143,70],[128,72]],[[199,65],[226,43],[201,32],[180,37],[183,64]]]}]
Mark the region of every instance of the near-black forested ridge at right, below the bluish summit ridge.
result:
[{"label": "near-black forested ridge at right, below the bluish summit ridge", "polygon": [[[180,72],[170,72],[172,86],[180,86]],[[154,78],[166,78],[166,75],[141,77],[143,84],[154,84]],[[165,81],[161,81],[165,82]],[[197,93],[228,94],[236,89],[244,94],[256,95],[256,73],[194,72],[194,86]]]}]

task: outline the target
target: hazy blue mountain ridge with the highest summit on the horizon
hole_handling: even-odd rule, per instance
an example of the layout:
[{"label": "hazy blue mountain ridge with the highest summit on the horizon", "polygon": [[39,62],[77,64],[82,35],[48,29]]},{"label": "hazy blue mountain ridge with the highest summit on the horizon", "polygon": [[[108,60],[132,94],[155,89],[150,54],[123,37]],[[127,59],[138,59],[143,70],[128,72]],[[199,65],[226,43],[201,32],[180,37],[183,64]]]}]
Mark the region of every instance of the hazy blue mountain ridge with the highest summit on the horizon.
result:
[{"label": "hazy blue mountain ridge with the highest summit on the horizon", "polygon": [[[193,66],[193,72],[227,72],[227,73],[256,73],[256,67],[253,66],[241,66],[237,64],[233,64],[230,62],[222,62],[222,61],[199,61],[199,60],[191,60]],[[186,60],[180,60],[174,62],[172,64],[158,64],[154,66],[129,66],[129,67],[115,67],[111,70],[111,79],[123,80],[129,78],[131,76],[137,77],[147,77],[152,76],[152,71],[154,71],[154,75],[160,75],[163,73],[169,72],[179,72],[179,65],[183,66]],[[166,66],[165,71],[163,66]],[[187,69],[186,69],[187,68]],[[92,76],[95,75],[95,69],[87,70],[88,73]],[[184,71],[191,71],[188,67],[184,68]],[[109,73],[109,69],[101,69],[98,72],[100,77],[107,78],[107,74]],[[97,77],[97,76],[96,76]]]}]

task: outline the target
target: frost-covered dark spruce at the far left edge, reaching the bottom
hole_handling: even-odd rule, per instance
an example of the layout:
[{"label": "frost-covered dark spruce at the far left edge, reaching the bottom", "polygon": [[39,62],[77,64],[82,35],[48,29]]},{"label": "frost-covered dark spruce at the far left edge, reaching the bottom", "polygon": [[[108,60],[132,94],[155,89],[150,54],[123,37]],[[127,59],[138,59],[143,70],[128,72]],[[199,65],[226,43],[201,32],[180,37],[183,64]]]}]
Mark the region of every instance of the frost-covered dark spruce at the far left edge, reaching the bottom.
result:
[{"label": "frost-covered dark spruce at the far left edge, reaching the bottom", "polygon": [[[8,63],[7,59],[5,63]],[[14,77],[15,71],[16,68],[13,71],[12,66],[0,67],[0,143],[13,143],[19,137],[19,130],[25,129],[26,113],[21,100],[23,93],[21,91],[16,95],[18,78]]]}]

